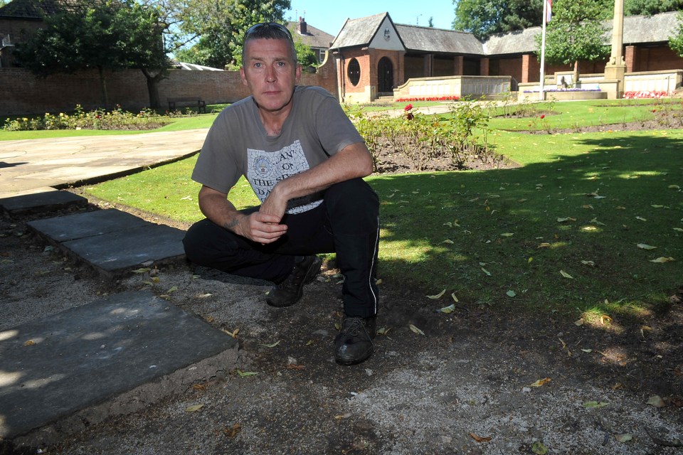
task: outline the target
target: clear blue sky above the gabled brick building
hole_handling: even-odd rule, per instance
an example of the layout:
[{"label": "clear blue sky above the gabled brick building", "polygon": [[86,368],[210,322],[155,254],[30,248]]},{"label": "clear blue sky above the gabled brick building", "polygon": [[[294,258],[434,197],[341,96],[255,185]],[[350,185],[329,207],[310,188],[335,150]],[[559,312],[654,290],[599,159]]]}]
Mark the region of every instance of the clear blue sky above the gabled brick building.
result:
[{"label": "clear blue sky above the gabled brick building", "polygon": [[285,19],[296,21],[304,16],[315,28],[337,36],[346,18],[359,18],[387,11],[394,23],[428,26],[433,17],[436,28],[451,28],[455,18],[452,0],[292,0],[292,9]]}]

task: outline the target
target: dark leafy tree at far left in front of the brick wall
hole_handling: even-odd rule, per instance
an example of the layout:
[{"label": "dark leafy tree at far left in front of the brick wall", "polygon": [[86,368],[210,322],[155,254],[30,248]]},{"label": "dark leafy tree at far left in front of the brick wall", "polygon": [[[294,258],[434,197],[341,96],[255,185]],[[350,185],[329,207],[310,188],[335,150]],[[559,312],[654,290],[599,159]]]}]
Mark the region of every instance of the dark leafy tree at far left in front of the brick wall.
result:
[{"label": "dark leafy tree at far left in front of the brick wall", "polygon": [[43,28],[17,45],[15,55],[25,68],[45,77],[96,69],[105,106],[107,70],[137,68],[147,77],[150,106],[158,107],[156,85],[168,65],[158,19],[157,11],[133,0],[75,4],[47,16]]}]

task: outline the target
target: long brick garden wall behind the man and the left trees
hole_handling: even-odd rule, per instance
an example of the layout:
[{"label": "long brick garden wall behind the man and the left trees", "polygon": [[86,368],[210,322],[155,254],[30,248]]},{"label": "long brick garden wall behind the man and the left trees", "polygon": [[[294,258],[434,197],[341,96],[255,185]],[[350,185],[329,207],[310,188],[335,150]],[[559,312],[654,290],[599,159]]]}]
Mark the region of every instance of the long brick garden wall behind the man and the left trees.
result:
[{"label": "long brick garden wall behind the man and the left trees", "polygon": [[[106,75],[110,105],[124,109],[149,106],[147,80],[139,70],[125,70]],[[337,94],[334,60],[330,59],[317,73],[302,74],[303,85],[319,85]],[[44,114],[72,110],[75,105],[94,109],[104,105],[97,71],[73,75],[36,77],[22,68],[0,68],[0,116]],[[235,102],[249,95],[239,71],[169,70],[169,77],[159,83],[159,101],[166,98],[198,96],[207,104]]]}]

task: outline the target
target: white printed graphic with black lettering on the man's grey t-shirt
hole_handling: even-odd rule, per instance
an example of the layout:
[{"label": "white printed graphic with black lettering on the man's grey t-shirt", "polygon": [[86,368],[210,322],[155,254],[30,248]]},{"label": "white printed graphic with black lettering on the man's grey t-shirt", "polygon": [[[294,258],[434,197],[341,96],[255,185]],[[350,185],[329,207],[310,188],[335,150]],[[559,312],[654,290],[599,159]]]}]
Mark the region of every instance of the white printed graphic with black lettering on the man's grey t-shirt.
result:
[{"label": "white printed graphic with black lettering on the man's grey t-shirt", "polygon": [[[280,151],[247,149],[247,163],[247,179],[261,203],[277,182],[310,168],[300,141],[294,141]],[[287,213],[302,213],[321,202],[319,194],[292,199],[287,204]]]}]

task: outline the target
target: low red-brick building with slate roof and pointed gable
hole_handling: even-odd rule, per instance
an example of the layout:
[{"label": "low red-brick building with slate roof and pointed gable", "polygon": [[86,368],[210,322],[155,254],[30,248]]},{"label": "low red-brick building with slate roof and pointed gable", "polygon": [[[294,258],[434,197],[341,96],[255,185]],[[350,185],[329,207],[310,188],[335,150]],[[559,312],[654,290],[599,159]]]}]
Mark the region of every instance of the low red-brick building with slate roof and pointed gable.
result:
[{"label": "low red-brick building with slate roof and pointed gable", "polygon": [[[611,22],[605,23],[605,44]],[[623,43],[627,72],[683,69],[683,58],[669,48],[677,33],[677,12],[624,18]],[[388,13],[348,19],[330,46],[337,59],[339,99],[365,102],[411,77],[452,75],[512,76],[519,82],[538,82],[540,63],[536,36],[540,27],[527,28],[478,41],[471,33],[393,23]],[[581,73],[603,73],[607,60],[582,62]],[[546,74],[571,70],[550,65]]]}]

